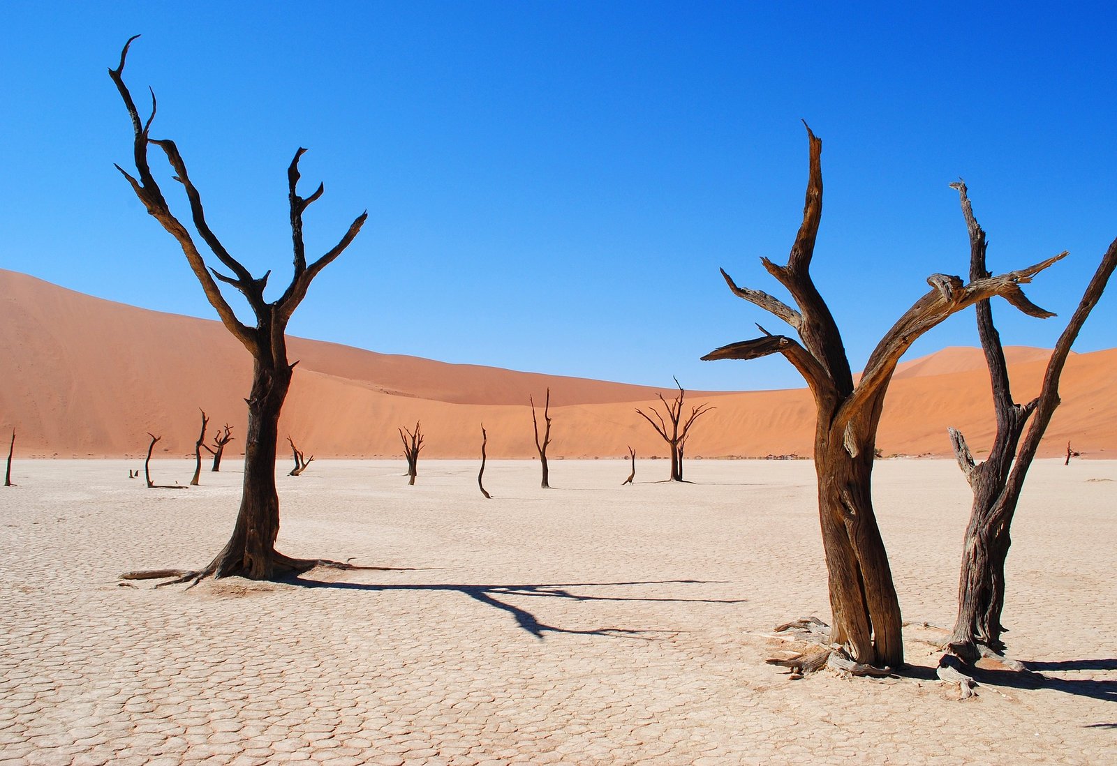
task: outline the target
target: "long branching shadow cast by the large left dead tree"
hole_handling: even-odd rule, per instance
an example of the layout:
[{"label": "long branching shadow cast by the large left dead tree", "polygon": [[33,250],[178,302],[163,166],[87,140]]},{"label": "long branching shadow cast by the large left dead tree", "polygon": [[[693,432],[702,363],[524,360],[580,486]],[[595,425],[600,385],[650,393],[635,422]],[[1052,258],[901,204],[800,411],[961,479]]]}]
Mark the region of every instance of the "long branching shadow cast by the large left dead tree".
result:
[{"label": "long branching shadow cast by the large left dead tree", "polygon": [[540,597],[540,599],[562,599],[570,601],[642,601],[642,602],[684,602],[684,603],[701,603],[701,604],[741,604],[744,603],[744,599],[669,599],[669,597],[645,597],[645,596],[596,596],[586,595],[580,593],[573,593],[569,588],[575,587],[609,587],[609,586],[621,586],[621,585],[676,585],[676,584],[708,584],[709,581],[703,580],[661,580],[661,581],[637,581],[637,582],[626,582],[626,583],[552,583],[552,584],[531,584],[531,585],[468,585],[468,584],[443,584],[443,583],[430,583],[430,584],[378,584],[378,583],[346,583],[346,582],[326,582],[321,580],[308,580],[306,577],[289,577],[283,582],[290,585],[298,585],[300,587],[325,587],[335,588],[340,591],[369,591],[374,593],[381,593],[386,591],[424,591],[429,593],[448,592],[448,593],[461,593],[469,596],[474,601],[477,601],[486,606],[491,606],[494,609],[507,612],[510,614],[516,624],[540,639],[544,640],[546,633],[567,633],[575,635],[607,635],[607,636],[629,636],[629,638],[642,638],[648,633],[677,633],[678,631],[655,631],[655,630],[628,630],[622,628],[598,628],[594,630],[572,630],[566,628],[556,628],[555,625],[548,625],[540,620],[529,611],[516,606],[508,601],[502,601],[497,596],[503,596],[507,599],[508,596],[527,596],[527,597]]}]

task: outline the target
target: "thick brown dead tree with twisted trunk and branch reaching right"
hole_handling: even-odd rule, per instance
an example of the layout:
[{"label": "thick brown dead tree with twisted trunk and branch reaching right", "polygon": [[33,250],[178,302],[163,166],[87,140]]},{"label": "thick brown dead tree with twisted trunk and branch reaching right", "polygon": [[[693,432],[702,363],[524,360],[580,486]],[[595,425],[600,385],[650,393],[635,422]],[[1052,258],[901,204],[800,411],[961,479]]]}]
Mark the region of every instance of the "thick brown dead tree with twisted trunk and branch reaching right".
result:
[{"label": "thick brown dead tree with twisted trunk and branch reaching right", "polygon": [[802,343],[760,327],[762,337],[723,346],[703,358],[752,360],[779,353],[805,379],[817,413],[814,468],[833,610],[831,640],[844,647],[858,663],[897,667],[904,661],[900,607],[871,497],[877,427],[896,364],[928,329],[994,295],[1032,316],[1051,316],[1024,297],[1020,284],[1030,281],[1066,253],[1020,271],[970,284],[963,284],[958,277],[932,275],[927,279],[930,291],[916,300],[885,334],[855,386],[841,333],[809,272],[822,216],[822,142],[809,127],[806,132],[810,175],[803,222],[786,266],[777,266],[767,258],[761,261],[787,289],[798,309],[760,290],[737,287],[722,271],[735,295],[786,322]]}]

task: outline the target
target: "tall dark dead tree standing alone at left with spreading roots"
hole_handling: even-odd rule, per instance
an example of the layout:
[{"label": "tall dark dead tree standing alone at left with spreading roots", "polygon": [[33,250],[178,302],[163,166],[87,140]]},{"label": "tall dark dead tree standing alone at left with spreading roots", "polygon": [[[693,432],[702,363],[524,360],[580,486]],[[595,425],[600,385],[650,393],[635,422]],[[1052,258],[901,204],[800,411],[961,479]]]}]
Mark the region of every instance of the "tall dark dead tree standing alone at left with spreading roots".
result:
[{"label": "tall dark dead tree standing alone at left with spreading roots", "polygon": [[[279,498],[276,494],[275,467],[276,442],[278,441],[279,412],[287,390],[290,387],[294,364],[287,361],[287,323],[295,308],[306,297],[311,281],[332,264],[350,246],[364,224],[366,213],[356,217],[341,240],[317,260],[307,264],[303,241],[303,213],[306,208],[322,197],[324,188],[318,188],[307,198],[299,197],[296,185],[299,180],[298,162],[306,150],[299,149],[287,169],[288,200],[290,203],[290,231],[294,247],[294,275],[283,294],[273,301],[265,300],[264,291],[270,271],[254,277],[248,269],[225,248],[206,220],[201,194],[187,171],[178,146],[170,140],[151,138],[149,132],[155,118],[155,99],[152,97],[151,116],[140,118],[132,94],[124,84],[124,63],[128,46],[121,51],[121,61],[108,74],[115,83],[128,116],[132,119],[133,159],[136,176],[117,165],[136,197],[147,212],[178,241],[190,264],[191,270],[201,283],[206,297],[217,310],[226,328],[236,337],[255,361],[252,387],[248,402],[248,434],[245,438],[245,482],[240,509],[232,535],[212,562],[194,572],[183,572],[176,582],[197,582],[212,575],[227,577],[241,575],[252,580],[273,580],[287,573],[305,572],[322,562],[317,559],[292,558],[275,549],[279,532]],[[244,142],[245,136],[238,136]],[[207,267],[194,243],[190,230],[171,212],[163,192],[149,165],[147,147],[157,146],[171,165],[173,179],[182,184],[190,202],[190,214],[194,229],[202,238],[220,265],[231,274],[222,274]],[[242,323],[226,301],[218,281],[230,285],[247,300],[255,317],[255,326]],[[130,576],[144,573],[130,573]],[[151,576],[147,573],[146,576]],[[165,576],[165,574],[164,574]]]}]

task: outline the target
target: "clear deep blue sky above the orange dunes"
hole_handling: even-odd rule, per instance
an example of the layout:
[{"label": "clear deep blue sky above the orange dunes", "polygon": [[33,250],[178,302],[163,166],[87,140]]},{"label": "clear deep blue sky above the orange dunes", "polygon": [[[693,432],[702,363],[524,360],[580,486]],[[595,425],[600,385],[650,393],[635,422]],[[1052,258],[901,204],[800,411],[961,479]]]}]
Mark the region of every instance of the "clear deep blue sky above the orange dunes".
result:
[{"label": "clear deep blue sky above the orange dunes", "polygon": [[[312,255],[369,210],[293,334],[653,385],[798,387],[779,357],[698,357],[755,336],[754,322],[784,329],[718,267],[781,295],[758,259],[783,262],[794,238],[806,119],[825,181],[813,275],[855,367],[927,275],[966,272],[958,176],[994,271],[1070,250],[1029,290],[1060,317],[995,307],[1005,343],[1050,346],[1117,237],[1117,12],[903,4],[6,2],[0,266],[216,316],[113,169],[131,126],[106,69],[143,33],[125,75],[141,104],[155,89],[153,136],[178,142],[213,229],[274,268],[274,287],[290,268],[296,147],[311,150],[304,193],[326,184],[306,216]],[[1078,351],[1117,345],[1110,291]],[[910,353],[976,343],[965,313]]]}]

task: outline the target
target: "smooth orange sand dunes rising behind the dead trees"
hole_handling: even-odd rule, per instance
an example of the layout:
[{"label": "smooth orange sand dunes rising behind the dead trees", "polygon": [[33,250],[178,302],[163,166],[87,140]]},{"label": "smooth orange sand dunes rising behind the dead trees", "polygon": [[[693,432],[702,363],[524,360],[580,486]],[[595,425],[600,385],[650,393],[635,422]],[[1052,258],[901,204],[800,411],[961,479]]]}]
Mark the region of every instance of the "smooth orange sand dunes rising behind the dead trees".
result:
[{"label": "smooth orange sand dunes rising behind the dead trees", "polygon": [[[423,423],[424,457],[479,453],[480,423],[494,458],[535,452],[528,394],[550,386],[550,454],[666,454],[634,412],[657,389],[556,375],[455,365],[290,338],[298,358],[280,433],[319,457],[401,454],[397,429]],[[1034,395],[1044,350],[1006,350],[1018,398]],[[193,451],[203,408],[211,425],[244,434],[251,362],[217,322],[162,314],[74,293],[0,270],[0,428],[15,427],[18,452],[36,457],[136,456],[147,431],[163,437],[156,454]],[[885,454],[947,454],[947,425],[980,453],[992,439],[987,375],[978,350],[947,348],[901,365],[889,393],[878,447]],[[1117,350],[1073,355],[1062,406],[1043,454],[1067,441],[1094,457],[1117,452],[1117,405],[1107,390]],[[668,392],[669,394],[669,392]],[[691,457],[809,456],[814,410],[805,389],[700,393],[716,409],[695,427]],[[689,402],[690,400],[688,400]],[[236,454],[241,442],[233,441]]]}]

